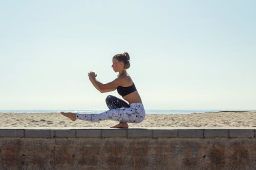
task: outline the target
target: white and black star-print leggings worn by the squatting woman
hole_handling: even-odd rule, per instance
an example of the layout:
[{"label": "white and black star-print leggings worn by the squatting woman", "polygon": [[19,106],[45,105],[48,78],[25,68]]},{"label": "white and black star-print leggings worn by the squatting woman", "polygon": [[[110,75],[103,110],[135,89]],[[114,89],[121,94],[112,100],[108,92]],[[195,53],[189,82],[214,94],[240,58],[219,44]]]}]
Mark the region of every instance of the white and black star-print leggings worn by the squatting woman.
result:
[{"label": "white and black star-print leggings worn by the squatting woman", "polygon": [[106,98],[106,105],[110,110],[98,114],[76,113],[76,118],[89,122],[99,122],[101,120],[116,120],[126,123],[141,123],[145,118],[145,110],[141,103],[128,105],[121,99],[113,95]]}]

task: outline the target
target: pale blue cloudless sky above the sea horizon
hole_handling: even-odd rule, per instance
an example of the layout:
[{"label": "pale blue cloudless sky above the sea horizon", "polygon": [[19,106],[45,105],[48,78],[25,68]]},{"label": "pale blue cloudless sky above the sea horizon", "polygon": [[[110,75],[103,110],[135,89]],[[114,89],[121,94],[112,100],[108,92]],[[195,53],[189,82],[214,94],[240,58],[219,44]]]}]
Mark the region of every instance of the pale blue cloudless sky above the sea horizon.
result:
[{"label": "pale blue cloudless sky above the sea horizon", "polygon": [[107,109],[112,57],[145,109],[256,109],[255,1],[0,0],[0,110]]}]

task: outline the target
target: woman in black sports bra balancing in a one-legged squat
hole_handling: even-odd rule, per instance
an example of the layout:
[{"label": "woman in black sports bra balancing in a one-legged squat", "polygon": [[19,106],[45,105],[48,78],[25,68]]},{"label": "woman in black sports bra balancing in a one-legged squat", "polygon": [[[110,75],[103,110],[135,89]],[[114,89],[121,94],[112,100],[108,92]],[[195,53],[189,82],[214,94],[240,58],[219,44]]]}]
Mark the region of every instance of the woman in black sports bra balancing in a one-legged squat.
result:
[{"label": "woman in black sports bra balancing in a one-legged squat", "polygon": [[101,120],[111,119],[119,121],[118,125],[111,128],[128,128],[127,123],[141,123],[145,118],[145,110],[140,95],[133,83],[131,77],[127,74],[126,69],[130,67],[130,56],[128,53],[117,54],[112,59],[112,68],[115,72],[119,72],[118,78],[110,83],[102,84],[96,77],[95,72],[89,72],[89,80],[94,87],[101,93],[114,91],[122,96],[125,101],[109,95],[106,98],[106,105],[110,110],[99,114],[80,114],[80,113],[64,113],[62,115],[69,117],[71,120],[76,119],[87,120],[90,122],[99,122]]}]

